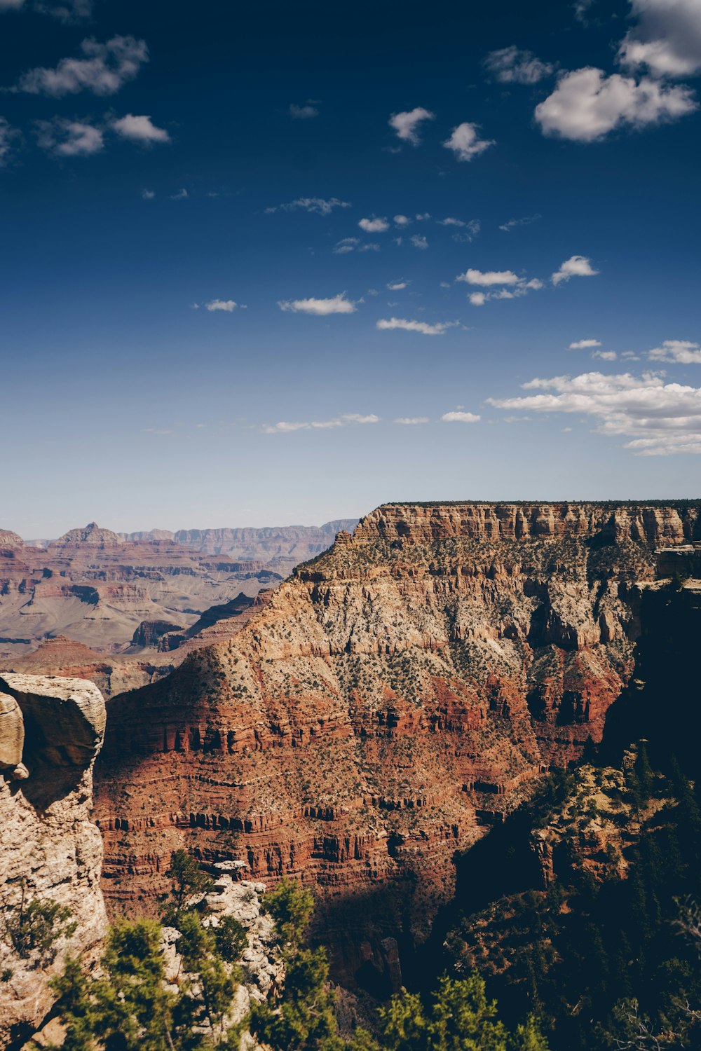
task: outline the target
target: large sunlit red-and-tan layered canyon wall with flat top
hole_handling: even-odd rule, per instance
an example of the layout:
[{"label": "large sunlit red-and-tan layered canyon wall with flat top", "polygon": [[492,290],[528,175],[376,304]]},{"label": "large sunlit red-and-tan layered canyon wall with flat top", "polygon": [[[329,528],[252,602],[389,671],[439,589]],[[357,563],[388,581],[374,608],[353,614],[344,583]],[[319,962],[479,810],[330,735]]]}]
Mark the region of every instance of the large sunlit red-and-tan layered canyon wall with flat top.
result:
[{"label": "large sunlit red-and-tan layered canyon wall with flat top", "polygon": [[110,702],[111,908],[153,908],[186,846],[313,884],[336,975],[396,974],[455,851],[601,738],[633,584],[700,507],[389,504],[342,533],[236,636]]}]

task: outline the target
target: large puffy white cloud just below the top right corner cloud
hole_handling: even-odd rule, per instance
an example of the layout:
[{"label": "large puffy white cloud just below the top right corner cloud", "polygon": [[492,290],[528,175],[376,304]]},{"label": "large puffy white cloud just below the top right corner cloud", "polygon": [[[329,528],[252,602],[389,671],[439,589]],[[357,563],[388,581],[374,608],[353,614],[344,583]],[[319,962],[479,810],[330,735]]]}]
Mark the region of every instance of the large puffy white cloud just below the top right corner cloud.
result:
[{"label": "large puffy white cloud just below the top right corner cloud", "polygon": [[587,66],[564,74],[535,118],[543,135],[594,142],[622,125],[636,128],[676,120],[697,108],[689,88],[668,87]]}]

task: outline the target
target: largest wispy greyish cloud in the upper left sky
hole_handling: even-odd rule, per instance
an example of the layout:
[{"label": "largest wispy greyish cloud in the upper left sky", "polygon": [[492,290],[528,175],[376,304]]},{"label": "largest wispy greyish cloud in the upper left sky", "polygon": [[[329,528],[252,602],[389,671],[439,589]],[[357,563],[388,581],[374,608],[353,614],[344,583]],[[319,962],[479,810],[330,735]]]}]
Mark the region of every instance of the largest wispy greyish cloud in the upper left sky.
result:
[{"label": "largest wispy greyish cloud in the upper left sky", "polygon": [[20,77],[17,90],[61,98],[79,91],[115,95],[148,62],[146,41],[112,37],[104,44],[88,38],[80,45],[83,59],[61,59],[55,69],[37,67]]}]

